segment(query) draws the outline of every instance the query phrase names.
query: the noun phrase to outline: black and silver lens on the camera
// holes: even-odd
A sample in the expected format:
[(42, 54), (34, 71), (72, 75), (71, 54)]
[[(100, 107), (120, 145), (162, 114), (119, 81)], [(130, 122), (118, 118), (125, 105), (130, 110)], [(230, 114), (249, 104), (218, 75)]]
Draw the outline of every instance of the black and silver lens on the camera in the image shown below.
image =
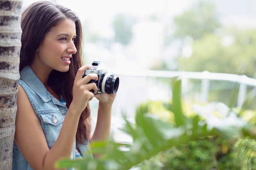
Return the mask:
[(106, 74), (104, 73), (101, 77), (100, 84), (101, 87), (100, 91), (103, 93), (108, 94), (115, 94), (117, 93), (118, 86), (119, 86), (119, 77), (113, 74)]

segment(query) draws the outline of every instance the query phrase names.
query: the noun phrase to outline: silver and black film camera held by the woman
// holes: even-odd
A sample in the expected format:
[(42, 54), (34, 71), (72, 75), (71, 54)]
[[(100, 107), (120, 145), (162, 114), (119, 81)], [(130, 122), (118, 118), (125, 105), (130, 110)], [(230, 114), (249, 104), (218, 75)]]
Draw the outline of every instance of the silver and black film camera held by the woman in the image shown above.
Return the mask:
[[(97, 85), (98, 91), (94, 95), (100, 93), (117, 93), (117, 89), (119, 86), (119, 77), (113, 74), (109, 74), (108, 71), (103, 68), (103, 65), (100, 64), (99, 61), (92, 62), (92, 67), (88, 68), (84, 72), (83, 77), (91, 73), (95, 73), (98, 75), (98, 80), (90, 80), (90, 82), (88, 82), (88, 84), (94, 82)], [(91, 90), (91, 92), (94, 93), (93, 90)]]

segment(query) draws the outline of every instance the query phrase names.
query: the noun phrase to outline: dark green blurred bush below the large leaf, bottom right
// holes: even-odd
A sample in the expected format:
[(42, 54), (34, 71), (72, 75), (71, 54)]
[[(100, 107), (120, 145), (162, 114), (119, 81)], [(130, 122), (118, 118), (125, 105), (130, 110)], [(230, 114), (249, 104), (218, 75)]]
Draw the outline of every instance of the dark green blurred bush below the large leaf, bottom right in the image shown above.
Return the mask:
[[(221, 139), (221, 140), (219, 140)], [(220, 142), (221, 141), (221, 142)], [(218, 143), (220, 142), (220, 143)], [(153, 160), (155, 159), (155, 160)], [(155, 169), (150, 167), (158, 163)], [(141, 164), (141, 170), (240, 170), (234, 144), (225, 138), (205, 137), (166, 150)]]

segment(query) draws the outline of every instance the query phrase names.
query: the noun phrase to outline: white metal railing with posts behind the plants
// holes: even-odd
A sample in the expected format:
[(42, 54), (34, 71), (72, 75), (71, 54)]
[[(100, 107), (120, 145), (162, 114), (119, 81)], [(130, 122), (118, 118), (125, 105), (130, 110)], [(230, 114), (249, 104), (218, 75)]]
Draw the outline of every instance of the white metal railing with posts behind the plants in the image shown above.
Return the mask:
[(204, 72), (186, 72), (186, 71), (137, 71), (137, 72), (117, 72), (119, 76), (128, 77), (164, 77), (173, 78), (180, 77), (180, 79), (200, 79), (201, 80), (201, 93), (200, 101), (207, 102), (209, 98), (210, 80), (223, 80), (229, 82), (237, 82), (239, 84), (239, 92), (237, 99), (237, 106), (242, 106), (246, 94), (247, 86), (256, 87), (256, 79), (247, 77), (246, 75), (236, 75), (227, 73), (210, 73)]

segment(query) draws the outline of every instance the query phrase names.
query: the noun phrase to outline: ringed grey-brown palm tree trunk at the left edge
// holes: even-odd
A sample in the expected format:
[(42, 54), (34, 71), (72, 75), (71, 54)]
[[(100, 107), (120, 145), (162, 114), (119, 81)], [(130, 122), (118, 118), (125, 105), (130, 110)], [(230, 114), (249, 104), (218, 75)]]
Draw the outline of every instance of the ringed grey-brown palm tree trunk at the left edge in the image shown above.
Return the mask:
[(23, 0), (0, 0), (0, 170), (12, 169)]

